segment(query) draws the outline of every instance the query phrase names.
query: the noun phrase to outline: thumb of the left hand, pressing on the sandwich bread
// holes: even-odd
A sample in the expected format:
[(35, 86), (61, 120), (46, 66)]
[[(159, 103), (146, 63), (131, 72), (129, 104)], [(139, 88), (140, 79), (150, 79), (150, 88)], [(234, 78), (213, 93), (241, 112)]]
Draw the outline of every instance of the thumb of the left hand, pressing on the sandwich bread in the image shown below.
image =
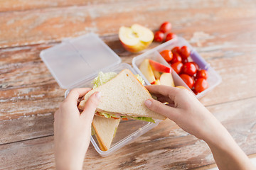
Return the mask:
[(85, 109), (81, 113), (81, 117), (84, 118), (88, 123), (92, 123), (93, 115), (95, 114), (96, 108), (100, 103), (100, 92), (97, 91), (92, 94), (85, 102)]

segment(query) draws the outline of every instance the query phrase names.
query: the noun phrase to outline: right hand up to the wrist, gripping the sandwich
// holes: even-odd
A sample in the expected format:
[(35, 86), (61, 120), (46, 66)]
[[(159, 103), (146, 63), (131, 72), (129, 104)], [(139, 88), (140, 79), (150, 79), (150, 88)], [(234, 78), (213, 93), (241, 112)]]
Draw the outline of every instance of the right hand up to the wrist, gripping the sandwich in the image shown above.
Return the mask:
[[(146, 100), (146, 106), (152, 111), (173, 120), (191, 135), (208, 141), (213, 139), (214, 132), (225, 129), (191, 91), (161, 85), (145, 87), (158, 99), (158, 101), (154, 99)], [(164, 102), (169, 104), (164, 105)]]

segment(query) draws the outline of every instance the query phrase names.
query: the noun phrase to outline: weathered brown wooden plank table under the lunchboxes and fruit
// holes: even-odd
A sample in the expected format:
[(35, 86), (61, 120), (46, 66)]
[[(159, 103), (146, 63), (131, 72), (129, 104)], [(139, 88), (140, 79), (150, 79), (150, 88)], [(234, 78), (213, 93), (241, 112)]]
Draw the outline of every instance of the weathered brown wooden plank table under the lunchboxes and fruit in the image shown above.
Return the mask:
[[(201, 102), (247, 155), (256, 153), (256, 3), (204, 0), (0, 0), (0, 169), (54, 169), (53, 113), (64, 99), (41, 50), (94, 32), (122, 62), (120, 26), (171, 21), (223, 81)], [(150, 48), (159, 45), (154, 42)], [(195, 169), (214, 164), (205, 142), (171, 120), (110, 157), (90, 145), (85, 169)]]

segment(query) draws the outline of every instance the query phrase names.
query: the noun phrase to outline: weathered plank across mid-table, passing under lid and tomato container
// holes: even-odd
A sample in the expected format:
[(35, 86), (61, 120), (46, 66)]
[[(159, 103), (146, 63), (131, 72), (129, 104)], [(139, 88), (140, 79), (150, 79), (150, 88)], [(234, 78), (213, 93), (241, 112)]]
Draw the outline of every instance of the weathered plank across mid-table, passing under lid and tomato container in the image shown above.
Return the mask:
[[(65, 90), (59, 88), (38, 57), (41, 48), (41, 45), (36, 45), (26, 50), (0, 50), (1, 120), (36, 113), (53, 113), (63, 100)], [(201, 99), (203, 104), (208, 106), (256, 95), (253, 85), (256, 83), (256, 60), (253, 57), (250, 59), (250, 56), (235, 55), (234, 52), (233, 57), (215, 58), (214, 62), (208, 60), (216, 65), (223, 82)], [(132, 60), (130, 57), (122, 59), (128, 63)], [(220, 64), (222, 66), (218, 66)], [(223, 67), (225, 64), (228, 68)], [(233, 91), (237, 92), (234, 94)], [(49, 103), (52, 103), (50, 108)]]

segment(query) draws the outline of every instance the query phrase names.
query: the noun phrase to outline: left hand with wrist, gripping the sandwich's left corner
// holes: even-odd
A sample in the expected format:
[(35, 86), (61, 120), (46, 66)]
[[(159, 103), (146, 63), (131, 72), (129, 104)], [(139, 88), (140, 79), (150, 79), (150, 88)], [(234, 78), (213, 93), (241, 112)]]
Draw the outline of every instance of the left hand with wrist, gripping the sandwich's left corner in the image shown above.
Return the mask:
[(73, 89), (54, 114), (56, 169), (82, 169), (100, 93), (96, 92), (90, 96), (82, 113), (78, 111), (78, 98), (85, 96), (90, 90)]

